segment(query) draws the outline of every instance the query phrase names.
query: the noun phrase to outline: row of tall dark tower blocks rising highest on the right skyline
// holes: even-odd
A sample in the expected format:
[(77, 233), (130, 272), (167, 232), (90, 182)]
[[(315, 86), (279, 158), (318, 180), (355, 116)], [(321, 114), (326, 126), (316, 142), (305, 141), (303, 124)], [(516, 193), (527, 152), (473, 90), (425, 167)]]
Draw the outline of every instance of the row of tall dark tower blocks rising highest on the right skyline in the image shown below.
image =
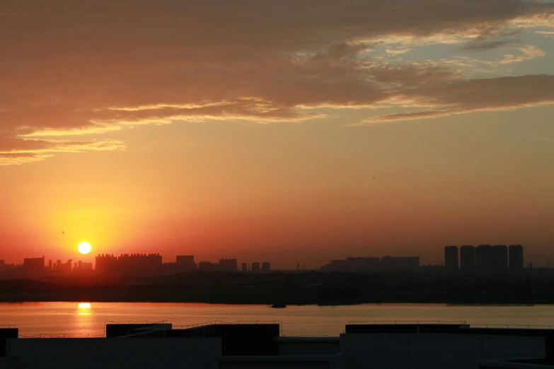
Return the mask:
[(444, 266), (447, 271), (480, 274), (521, 273), (524, 252), (521, 245), (473, 245), (444, 247)]

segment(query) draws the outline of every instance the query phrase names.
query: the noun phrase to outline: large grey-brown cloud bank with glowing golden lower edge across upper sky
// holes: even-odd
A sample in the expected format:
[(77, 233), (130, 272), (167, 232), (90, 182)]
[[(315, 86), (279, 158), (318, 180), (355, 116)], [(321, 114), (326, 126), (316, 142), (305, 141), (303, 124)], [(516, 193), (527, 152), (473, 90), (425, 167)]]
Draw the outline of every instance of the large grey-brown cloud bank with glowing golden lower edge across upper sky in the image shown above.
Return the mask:
[[(304, 122), (325, 117), (321, 107), (422, 104), (429, 91), (461, 83), (459, 68), (393, 65), (372, 58), (375, 47), (393, 56), (472, 40), (469, 49), (499, 47), (498, 37), (515, 34), (507, 28), (548, 30), (553, 9), (524, 0), (4, 0), (3, 163), (94, 151), (94, 141), (62, 139), (108, 142), (110, 132), (143, 124)], [(60, 140), (16, 153), (40, 138)]]

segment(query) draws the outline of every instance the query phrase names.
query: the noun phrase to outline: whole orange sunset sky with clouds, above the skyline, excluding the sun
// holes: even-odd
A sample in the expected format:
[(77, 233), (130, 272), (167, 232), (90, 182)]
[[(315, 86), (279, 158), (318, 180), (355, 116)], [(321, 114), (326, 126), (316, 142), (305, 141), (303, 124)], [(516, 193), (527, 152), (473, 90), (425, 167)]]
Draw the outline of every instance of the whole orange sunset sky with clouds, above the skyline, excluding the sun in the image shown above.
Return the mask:
[(4, 1), (0, 259), (546, 264), (553, 5), (337, 4)]

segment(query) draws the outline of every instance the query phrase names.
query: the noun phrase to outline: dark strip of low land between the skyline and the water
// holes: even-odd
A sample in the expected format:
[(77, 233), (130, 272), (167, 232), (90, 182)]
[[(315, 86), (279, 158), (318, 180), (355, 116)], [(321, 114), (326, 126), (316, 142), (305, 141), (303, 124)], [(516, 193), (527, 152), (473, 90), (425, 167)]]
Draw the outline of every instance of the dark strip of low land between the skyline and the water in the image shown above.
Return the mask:
[(241, 274), (10, 279), (0, 302), (207, 303), (224, 305), (554, 305), (554, 275)]

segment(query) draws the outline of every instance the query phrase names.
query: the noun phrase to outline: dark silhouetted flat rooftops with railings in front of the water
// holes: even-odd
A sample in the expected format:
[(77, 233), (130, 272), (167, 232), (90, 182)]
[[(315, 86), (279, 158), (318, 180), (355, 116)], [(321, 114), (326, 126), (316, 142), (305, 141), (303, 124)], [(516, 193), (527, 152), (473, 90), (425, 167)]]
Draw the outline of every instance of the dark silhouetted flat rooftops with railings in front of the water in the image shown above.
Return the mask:
[[(554, 331), (456, 324), (347, 324), (336, 337), (279, 324), (107, 324), (105, 337), (18, 338), (0, 329), (0, 369), (553, 368)], [(63, 360), (62, 360), (63, 358)]]

